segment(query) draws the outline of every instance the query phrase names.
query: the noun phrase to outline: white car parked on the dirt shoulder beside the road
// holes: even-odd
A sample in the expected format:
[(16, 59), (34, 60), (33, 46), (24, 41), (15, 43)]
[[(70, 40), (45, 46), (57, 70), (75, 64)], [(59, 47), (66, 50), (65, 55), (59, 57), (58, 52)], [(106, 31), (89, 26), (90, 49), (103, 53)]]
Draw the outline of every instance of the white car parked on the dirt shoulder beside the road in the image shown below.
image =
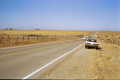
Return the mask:
[(98, 49), (99, 43), (97, 43), (96, 39), (87, 39), (85, 42), (85, 48), (96, 48)]

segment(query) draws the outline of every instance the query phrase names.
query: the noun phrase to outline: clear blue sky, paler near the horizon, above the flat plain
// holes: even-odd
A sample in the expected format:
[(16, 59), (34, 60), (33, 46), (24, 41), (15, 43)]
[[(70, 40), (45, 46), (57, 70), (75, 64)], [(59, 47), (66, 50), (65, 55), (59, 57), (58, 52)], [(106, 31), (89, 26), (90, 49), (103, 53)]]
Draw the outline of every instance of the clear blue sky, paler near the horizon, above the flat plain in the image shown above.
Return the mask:
[(0, 28), (120, 30), (119, 0), (0, 0)]

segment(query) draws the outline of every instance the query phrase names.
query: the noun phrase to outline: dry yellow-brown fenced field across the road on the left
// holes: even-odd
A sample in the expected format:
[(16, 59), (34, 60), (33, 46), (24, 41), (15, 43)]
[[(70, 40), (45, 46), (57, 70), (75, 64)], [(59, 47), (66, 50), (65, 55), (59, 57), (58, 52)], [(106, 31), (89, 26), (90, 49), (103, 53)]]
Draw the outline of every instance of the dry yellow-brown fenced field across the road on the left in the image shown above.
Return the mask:
[(0, 30), (0, 47), (12, 47), (48, 41), (80, 39), (91, 31)]

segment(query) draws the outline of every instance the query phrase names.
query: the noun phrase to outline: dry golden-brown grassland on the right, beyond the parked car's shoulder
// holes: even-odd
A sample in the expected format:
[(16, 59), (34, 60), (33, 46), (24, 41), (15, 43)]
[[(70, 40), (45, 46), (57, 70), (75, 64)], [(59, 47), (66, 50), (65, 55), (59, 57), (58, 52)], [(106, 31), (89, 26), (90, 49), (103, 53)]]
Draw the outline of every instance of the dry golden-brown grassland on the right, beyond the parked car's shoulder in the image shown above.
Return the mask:
[(98, 79), (120, 79), (120, 32), (98, 32), (102, 50), (96, 54), (95, 74)]

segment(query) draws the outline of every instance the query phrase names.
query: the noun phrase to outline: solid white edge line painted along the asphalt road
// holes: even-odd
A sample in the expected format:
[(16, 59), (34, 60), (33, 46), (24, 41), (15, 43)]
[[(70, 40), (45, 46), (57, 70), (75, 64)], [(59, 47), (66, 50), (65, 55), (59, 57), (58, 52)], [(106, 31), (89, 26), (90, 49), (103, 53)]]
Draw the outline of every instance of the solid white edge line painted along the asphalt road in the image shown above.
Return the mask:
[(40, 72), (41, 70), (43, 70), (44, 68), (47, 68), (49, 65), (55, 63), (56, 61), (62, 59), (63, 57), (67, 56), (68, 54), (74, 52), (74, 51), (77, 50), (79, 47), (80, 47), (80, 44), (79, 44), (77, 47), (73, 48), (72, 50), (64, 53), (62, 56), (57, 57), (56, 59), (52, 60), (51, 62), (47, 63), (46, 65), (40, 67), (39, 69), (35, 70), (34, 72), (32, 72), (32, 73), (28, 74), (27, 76), (23, 77), (22, 79), (28, 79), (28, 78), (30, 78), (31, 76), (33, 76), (33, 75), (35, 75), (36, 73), (38, 73), (38, 72)]

